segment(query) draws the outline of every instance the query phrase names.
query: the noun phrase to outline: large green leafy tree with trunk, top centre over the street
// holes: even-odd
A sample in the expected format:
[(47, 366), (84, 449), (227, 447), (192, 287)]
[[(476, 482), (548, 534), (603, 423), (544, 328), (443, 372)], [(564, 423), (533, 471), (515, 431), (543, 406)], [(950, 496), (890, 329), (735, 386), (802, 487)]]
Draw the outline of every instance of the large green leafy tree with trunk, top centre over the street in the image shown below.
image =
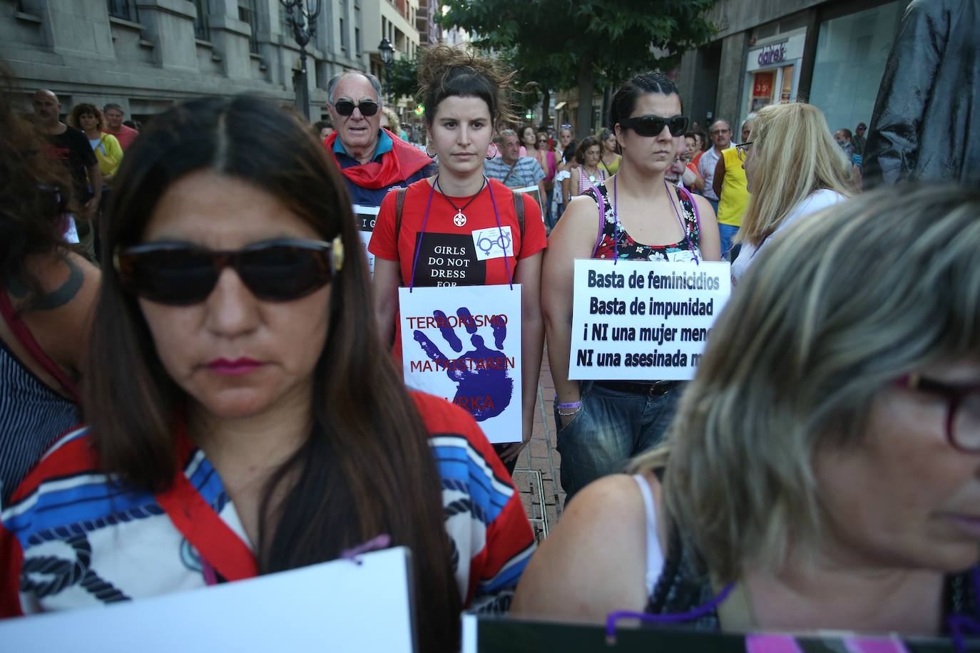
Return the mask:
[(640, 70), (673, 68), (707, 42), (714, 0), (444, 0), (445, 25), (478, 35), (481, 48), (513, 48), (521, 76), (578, 87), (578, 131), (592, 128), (597, 77), (617, 83)]

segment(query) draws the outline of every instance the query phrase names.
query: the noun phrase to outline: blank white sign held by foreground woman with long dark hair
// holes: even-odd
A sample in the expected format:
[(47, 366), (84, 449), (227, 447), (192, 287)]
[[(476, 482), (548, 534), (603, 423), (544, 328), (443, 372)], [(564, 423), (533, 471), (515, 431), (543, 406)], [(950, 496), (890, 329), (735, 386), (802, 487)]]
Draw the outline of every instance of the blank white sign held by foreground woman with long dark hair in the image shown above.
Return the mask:
[(0, 621), (29, 653), (331, 651), (412, 653), (407, 548), (105, 607)]

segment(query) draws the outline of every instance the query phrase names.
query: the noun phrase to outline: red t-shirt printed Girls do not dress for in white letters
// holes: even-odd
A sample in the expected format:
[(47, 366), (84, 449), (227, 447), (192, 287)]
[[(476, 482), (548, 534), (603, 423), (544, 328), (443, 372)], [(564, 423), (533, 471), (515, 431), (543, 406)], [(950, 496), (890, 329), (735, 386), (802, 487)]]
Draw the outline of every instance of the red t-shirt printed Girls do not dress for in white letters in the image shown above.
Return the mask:
[[(504, 231), (504, 242), (509, 256), (504, 257), (500, 246), (500, 231), (494, 214), (494, 202), (500, 213), (500, 226)], [(375, 257), (399, 261), (402, 272), (402, 285), (410, 285), (412, 265), (416, 257), (419, 237), (421, 248), (415, 271), (415, 285), (427, 286), (493, 286), (511, 281), (508, 266), (514, 275), (517, 261), (531, 257), (548, 247), (545, 223), (541, 219), (541, 209), (537, 203), (523, 196), (524, 235), (514, 211), (512, 191), (496, 179), (489, 180), (463, 213), (466, 224), (456, 226), (453, 216), (456, 209), (452, 201), (462, 208), (469, 198), (450, 197), (438, 191), (432, 194), (432, 206), (422, 234), (422, 221), (428, 205), (432, 186), (421, 179), (408, 187), (405, 206), (402, 208), (402, 227), (395, 242), (395, 193), (389, 192), (378, 210), (374, 233), (371, 235), (368, 252)], [(505, 260), (507, 261), (505, 263)], [(395, 355), (401, 358), (402, 333), (400, 316), (395, 323)]]

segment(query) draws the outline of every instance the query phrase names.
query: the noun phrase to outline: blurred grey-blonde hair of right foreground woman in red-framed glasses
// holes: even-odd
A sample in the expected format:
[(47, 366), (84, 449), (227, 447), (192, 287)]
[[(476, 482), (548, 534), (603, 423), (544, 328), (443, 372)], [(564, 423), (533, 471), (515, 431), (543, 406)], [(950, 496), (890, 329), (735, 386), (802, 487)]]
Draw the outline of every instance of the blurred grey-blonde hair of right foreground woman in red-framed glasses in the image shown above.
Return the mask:
[(861, 442), (909, 372), (980, 360), (980, 191), (891, 187), (809, 215), (719, 316), (662, 445), (665, 518), (712, 574), (803, 560), (821, 525), (814, 453)]

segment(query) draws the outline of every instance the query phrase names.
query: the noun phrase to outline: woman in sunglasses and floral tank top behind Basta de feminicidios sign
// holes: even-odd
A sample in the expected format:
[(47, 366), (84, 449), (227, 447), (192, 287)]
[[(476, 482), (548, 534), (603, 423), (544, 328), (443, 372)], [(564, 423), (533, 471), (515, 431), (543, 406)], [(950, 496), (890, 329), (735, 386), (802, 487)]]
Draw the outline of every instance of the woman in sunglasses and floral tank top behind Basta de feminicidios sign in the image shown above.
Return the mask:
[(663, 179), (678, 141), (683, 143), (682, 111), (677, 87), (659, 72), (624, 84), (611, 111), (622, 151), (619, 169), (569, 203), (548, 241), (541, 298), (555, 380), (562, 487), (569, 498), (656, 444), (679, 394), (676, 382), (568, 380), (575, 259), (719, 258), (711, 205)]

